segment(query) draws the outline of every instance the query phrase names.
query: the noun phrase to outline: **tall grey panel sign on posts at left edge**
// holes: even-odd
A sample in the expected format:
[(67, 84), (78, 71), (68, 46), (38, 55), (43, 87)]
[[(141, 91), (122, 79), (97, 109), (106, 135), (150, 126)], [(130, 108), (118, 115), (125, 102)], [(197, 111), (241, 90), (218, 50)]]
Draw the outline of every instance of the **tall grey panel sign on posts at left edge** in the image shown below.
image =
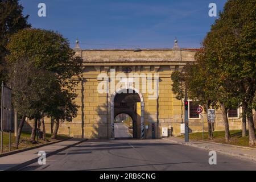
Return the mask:
[(1, 153), (3, 152), (3, 131), (9, 131), (9, 150), (11, 151), (11, 89), (2, 82), (1, 97)]

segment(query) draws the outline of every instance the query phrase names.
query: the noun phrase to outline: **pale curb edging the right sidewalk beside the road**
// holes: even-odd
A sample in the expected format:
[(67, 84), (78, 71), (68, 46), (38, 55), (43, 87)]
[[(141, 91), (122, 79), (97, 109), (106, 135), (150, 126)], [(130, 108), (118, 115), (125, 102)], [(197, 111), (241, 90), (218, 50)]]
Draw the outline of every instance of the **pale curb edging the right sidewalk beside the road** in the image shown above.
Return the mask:
[(235, 153), (232, 153), (232, 152), (225, 152), (225, 151), (222, 151), (222, 150), (219, 150), (219, 149), (216, 149), (216, 148), (197, 146), (196, 144), (193, 144), (193, 143), (177, 142), (176, 140), (171, 140), (171, 139), (167, 139), (167, 140), (170, 141), (170, 142), (183, 144), (185, 146), (200, 148), (200, 149), (207, 150), (207, 151), (214, 150), (216, 152), (219, 152), (220, 154), (229, 155), (229, 156), (233, 156), (233, 157), (240, 158), (240, 159), (253, 160), (254, 162), (256, 162), (256, 156), (251, 156), (251, 155), (246, 155), (246, 154), (235, 154)]

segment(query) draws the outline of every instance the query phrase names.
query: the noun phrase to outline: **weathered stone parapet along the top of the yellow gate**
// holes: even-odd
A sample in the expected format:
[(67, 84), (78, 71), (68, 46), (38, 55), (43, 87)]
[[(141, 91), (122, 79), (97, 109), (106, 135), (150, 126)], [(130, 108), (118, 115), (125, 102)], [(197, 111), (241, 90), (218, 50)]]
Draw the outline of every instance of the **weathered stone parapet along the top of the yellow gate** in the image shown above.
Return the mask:
[(171, 63), (171, 62), (194, 62), (195, 53), (200, 49), (86, 49), (76, 51), (84, 63)]

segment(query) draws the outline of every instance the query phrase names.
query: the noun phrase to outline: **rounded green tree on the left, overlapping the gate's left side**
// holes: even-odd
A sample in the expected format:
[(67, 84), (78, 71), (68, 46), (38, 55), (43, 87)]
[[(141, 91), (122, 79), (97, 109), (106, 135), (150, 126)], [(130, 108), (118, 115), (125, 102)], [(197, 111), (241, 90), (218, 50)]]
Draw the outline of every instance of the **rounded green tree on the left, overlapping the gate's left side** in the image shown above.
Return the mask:
[(73, 92), (82, 72), (82, 59), (59, 33), (35, 28), (18, 31), (6, 47), (14, 105), (23, 119), (34, 119), (34, 143), (38, 119), (48, 116), (71, 121), (76, 116), (73, 100), (77, 95)]

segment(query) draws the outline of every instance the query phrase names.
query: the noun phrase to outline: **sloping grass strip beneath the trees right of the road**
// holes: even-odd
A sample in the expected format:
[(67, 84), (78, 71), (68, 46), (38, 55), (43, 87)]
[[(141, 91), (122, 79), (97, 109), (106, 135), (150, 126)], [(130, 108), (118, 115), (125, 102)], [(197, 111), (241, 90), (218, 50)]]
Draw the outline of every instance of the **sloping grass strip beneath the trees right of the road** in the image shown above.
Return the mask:
[[(256, 134), (256, 131), (255, 131)], [(208, 139), (208, 132), (204, 132), (204, 140), (205, 141), (211, 141), (211, 142), (217, 142), (217, 143), (226, 143), (226, 144), (233, 144), (236, 146), (246, 146), (249, 147), (249, 134), (247, 131), (246, 137), (242, 137), (242, 131), (241, 130), (232, 130), (230, 131), (231, 135), (231, 142), (226, 143), (225, 142), (225, 131), (214, 131), (213, 132), (213, 139)], [(180, 136), (181, 138), (184, 138), (184, 135)], [(190, 133), (189, 139), (191, 140), (202, 140), (203, 133)], [(256, 146), (254, 146), (256, 147)]]

